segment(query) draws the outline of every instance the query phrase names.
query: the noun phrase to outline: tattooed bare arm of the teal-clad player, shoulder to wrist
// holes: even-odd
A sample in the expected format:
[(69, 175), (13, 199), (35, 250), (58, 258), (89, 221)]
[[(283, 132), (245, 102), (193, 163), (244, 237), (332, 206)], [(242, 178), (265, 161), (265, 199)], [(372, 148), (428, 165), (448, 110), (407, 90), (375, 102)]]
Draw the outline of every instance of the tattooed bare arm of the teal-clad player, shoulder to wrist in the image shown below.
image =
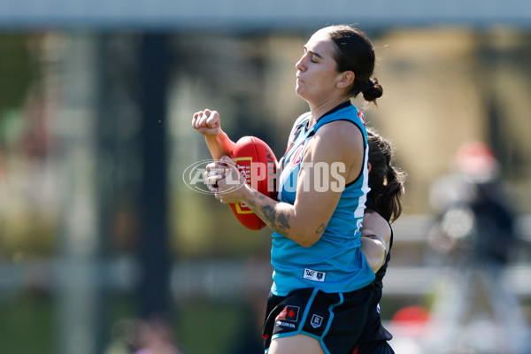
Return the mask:
[(353, 181), (361, 171), (363, 151), (363, 135), (352, 123), (327, 124), (319, 129), (304, 153), (293, 205), (273, 201), (252, 189), (247, 189), (243, 202), (268, 227), (310, 247), (323, 235), (345, 183)]

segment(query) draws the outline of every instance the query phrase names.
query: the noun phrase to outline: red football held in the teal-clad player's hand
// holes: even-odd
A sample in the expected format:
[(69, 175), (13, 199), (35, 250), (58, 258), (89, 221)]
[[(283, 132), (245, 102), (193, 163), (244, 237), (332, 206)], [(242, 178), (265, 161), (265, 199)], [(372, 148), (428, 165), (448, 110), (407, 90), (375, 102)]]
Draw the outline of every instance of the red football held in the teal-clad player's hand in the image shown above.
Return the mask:
[[(277, 160), (266, 142), (256, 136), (243, 136), (235, 143), (230, 158), (238, 165), (247, 184), (265, 196), (276, 198)], [(230, 204), (230, 208), (244, 227), (251, 230), (266, 227), (266, 223), (245, 204)]]

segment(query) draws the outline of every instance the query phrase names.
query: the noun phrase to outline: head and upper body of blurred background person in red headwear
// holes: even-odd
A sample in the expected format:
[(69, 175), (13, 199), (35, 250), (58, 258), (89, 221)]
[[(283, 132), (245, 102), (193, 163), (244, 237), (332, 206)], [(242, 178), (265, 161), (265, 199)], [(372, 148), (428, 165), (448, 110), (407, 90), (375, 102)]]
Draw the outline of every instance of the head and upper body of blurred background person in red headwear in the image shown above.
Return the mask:
[(430, 195), (439, 218), (430, 245), (458, 260), (504, 266), (517, 237), (494, 154), (482, 142), (466, 143), (454, 167), (435, 181)]

